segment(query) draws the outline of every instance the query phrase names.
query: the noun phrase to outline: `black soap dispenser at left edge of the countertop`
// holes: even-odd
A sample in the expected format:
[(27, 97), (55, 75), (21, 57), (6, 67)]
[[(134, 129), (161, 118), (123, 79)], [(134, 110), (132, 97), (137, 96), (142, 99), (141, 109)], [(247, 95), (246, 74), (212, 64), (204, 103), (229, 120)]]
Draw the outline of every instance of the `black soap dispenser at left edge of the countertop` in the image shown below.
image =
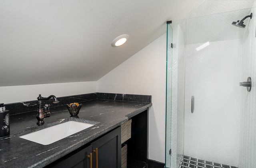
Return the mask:
[(0, 104), (0, 136), (10, 134), (9, 110), (6, 110), (4, 103)]

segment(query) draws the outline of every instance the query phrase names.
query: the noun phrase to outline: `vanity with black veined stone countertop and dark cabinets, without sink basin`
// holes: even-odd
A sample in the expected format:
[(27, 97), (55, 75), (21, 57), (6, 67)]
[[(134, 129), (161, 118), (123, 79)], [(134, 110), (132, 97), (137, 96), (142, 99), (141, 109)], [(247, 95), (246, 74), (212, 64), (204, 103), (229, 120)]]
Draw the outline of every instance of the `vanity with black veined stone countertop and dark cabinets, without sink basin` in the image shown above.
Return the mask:
[[(121, 167), (122, 123), (132, 119), (127, 144), (128, 165), (148, 161), (148, 108), (152, 103), (94, 99), (80, 102), (79, 118), (70, 118), (66, 106), (51, 107), (44, 125), (36, 125), (36, 112), (10, 116), (10, 136), (0, 137), (0, 167)], [(52, 125), (74, 121), (92, 121), (95, 125), (42, 145), (19, 136)], [(98, 156), (98, 158), (96, 157)], [(137, 163), (136, 163), (137, 164)], [(138, 165), (138, 164), (137, 164)]]

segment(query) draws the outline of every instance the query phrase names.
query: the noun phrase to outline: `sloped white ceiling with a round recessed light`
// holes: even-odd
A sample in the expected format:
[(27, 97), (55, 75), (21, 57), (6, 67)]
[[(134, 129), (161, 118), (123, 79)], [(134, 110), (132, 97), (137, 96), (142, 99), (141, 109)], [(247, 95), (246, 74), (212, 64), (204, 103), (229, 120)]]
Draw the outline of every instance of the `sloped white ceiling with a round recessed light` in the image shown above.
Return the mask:
[(202, 1), (3, 0), (0, 86), (97, 81)]

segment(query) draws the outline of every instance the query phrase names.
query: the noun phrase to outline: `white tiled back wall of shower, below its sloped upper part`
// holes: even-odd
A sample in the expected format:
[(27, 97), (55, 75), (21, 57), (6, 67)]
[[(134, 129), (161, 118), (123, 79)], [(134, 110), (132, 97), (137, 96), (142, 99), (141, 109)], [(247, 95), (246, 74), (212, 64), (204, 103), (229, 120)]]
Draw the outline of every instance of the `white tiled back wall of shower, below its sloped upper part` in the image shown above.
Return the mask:
[(184, 155), (238, 166), (242, 43), (200, 45), (186, 45)]

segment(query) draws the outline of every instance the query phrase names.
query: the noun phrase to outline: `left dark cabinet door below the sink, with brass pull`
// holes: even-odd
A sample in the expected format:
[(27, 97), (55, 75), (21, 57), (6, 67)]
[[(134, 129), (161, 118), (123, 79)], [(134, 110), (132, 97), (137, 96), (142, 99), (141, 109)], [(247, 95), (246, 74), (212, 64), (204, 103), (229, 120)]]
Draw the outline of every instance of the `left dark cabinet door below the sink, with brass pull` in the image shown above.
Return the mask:
[[(74, 154), (73, 154), (74, 153)], [(60, 160), (48, 165), (50, 168), (90, 168), (90, 153), (92, 153), (92, 145), (80, 150), (72, 152), (64, 156)], [(92, 163), (91, 163), (92, 164)]]

